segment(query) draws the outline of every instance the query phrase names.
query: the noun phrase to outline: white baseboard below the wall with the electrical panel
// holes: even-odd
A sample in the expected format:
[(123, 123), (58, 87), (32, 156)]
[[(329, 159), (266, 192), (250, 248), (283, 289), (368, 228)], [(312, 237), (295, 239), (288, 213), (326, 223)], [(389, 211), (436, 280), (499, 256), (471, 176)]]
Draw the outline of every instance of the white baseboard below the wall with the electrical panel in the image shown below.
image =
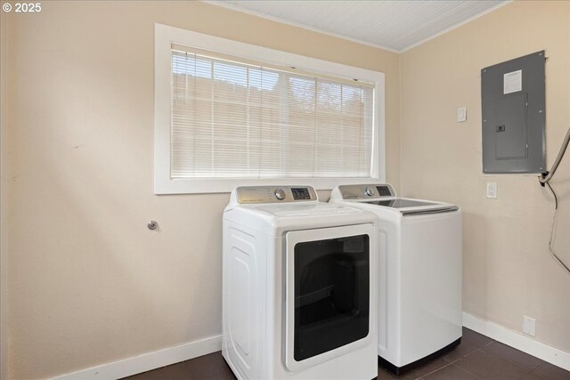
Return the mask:
[(548, 361), (550, 364), (570, 371), (570, 352), (564, 352), (548, 344), (542, 344), (528, 336), (524, 336), (488, 320), (479, 319), (465, 311), (463, 311), (463, 326), (484, 336), (489, 336), (502, 344), (507, 344), (517, 350), (526, 352), (529, 355), (533, 355), (536, 358)]

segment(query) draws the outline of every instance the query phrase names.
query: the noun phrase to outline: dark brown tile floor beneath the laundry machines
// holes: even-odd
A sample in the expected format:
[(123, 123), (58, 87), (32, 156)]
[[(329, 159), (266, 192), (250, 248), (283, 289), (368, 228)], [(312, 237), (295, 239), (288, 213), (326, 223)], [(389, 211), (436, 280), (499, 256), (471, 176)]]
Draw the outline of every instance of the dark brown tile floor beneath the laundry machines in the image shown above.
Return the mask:
[[(392, 375), (384, 368), (379, 368), (378, 378), (398, 378), (400, 380), (570, 380), (570, 372), (464, 327), (461, 344), (452, 352), (431, 360), (399, 377)], [(235, 379), (235, 376), (222, 358), (222, 352), (214, 352), (172, 366), (126, 377), (126, 379), (231, 380)]]

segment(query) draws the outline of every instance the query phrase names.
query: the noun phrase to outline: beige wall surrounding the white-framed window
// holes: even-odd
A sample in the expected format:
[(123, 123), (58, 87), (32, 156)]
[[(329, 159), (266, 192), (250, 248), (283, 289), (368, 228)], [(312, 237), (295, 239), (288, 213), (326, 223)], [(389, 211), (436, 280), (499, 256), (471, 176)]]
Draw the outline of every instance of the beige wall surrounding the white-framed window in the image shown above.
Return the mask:
[(42, 2), (40, 14), (3, 14), (11, 379), (221, 334), (228, 195), (152, 190), (155, 22), (386, 73), (387, 180), (399, 185), (395, 53), (196, 2)]

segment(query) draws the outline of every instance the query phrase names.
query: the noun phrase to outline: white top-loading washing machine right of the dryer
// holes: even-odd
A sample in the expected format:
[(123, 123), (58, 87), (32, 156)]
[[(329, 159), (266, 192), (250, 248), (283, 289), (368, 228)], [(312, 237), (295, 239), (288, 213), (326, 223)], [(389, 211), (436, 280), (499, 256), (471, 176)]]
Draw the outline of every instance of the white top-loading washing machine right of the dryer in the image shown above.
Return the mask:
[(330, 202), (379, 217), (380, 364), (400, 375), (460, 344), (460, 207), (389, 184), (338, 186)]

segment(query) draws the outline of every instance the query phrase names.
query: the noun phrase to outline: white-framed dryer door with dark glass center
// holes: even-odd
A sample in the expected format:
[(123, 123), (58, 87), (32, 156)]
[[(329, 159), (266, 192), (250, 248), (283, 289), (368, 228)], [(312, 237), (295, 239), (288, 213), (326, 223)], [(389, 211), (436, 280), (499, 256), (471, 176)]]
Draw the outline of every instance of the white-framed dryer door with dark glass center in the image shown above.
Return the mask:
[(371, 224), (286, 235), (286, 366), (314, 366), (367, 344), (374, 331)]

